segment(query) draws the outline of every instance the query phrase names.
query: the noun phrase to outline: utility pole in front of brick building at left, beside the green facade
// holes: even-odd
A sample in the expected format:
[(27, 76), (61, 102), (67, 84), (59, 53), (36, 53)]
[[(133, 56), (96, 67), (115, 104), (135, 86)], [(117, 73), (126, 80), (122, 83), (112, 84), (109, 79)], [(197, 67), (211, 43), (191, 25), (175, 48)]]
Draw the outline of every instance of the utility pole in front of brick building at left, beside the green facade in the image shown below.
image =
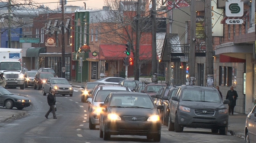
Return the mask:
[(62, 0), (62, 78), (65, 78), (64, 0)]

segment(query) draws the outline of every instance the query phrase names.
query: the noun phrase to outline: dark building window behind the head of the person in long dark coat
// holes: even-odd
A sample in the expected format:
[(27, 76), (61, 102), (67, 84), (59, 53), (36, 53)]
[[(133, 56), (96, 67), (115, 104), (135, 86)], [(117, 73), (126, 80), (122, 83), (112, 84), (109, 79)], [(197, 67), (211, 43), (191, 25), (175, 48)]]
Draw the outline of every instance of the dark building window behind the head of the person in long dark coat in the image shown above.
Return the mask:
[(219, 68), (219, 85), (220, 86), (236, 86), (237, 85), (237, 69), (232, 67)]

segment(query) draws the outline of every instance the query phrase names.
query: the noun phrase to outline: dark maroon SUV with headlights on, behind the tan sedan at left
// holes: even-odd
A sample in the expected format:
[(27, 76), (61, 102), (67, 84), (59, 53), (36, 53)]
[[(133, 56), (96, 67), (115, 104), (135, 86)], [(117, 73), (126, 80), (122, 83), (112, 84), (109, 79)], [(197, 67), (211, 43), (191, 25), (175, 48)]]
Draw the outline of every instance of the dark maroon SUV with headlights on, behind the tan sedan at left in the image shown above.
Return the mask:
[(54, 77), (50, 72), (37, 72), (34, 78), (34, 89), (40, 90), (48, 78)]

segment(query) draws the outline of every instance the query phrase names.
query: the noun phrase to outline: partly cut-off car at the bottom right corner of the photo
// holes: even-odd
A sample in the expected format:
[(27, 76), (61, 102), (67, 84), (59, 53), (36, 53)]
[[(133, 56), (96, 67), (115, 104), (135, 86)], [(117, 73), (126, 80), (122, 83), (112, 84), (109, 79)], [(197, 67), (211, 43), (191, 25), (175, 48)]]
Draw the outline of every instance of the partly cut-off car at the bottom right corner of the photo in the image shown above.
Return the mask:
[(245, 143), (256, 143), (256, 105), (247, 115), (244, 134)]

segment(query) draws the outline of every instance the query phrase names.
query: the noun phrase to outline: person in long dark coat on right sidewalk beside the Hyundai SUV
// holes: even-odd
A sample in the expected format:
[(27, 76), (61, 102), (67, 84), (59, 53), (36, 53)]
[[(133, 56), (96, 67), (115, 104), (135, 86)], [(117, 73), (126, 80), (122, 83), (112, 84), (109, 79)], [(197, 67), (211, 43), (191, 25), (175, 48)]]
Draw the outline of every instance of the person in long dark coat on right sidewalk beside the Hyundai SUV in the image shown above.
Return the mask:
[(227, 96), (226, 96), (226, 99), (230, 101), (228, 104), (229, 115), (230, 113), (232, 113), (232, 115), (234, 114), (234, 108), (236, 106), (237, 97), (238, 97), (237, 91), (234, 90), (233, 86), (230, 86), (230, 90), (228, 90)]

